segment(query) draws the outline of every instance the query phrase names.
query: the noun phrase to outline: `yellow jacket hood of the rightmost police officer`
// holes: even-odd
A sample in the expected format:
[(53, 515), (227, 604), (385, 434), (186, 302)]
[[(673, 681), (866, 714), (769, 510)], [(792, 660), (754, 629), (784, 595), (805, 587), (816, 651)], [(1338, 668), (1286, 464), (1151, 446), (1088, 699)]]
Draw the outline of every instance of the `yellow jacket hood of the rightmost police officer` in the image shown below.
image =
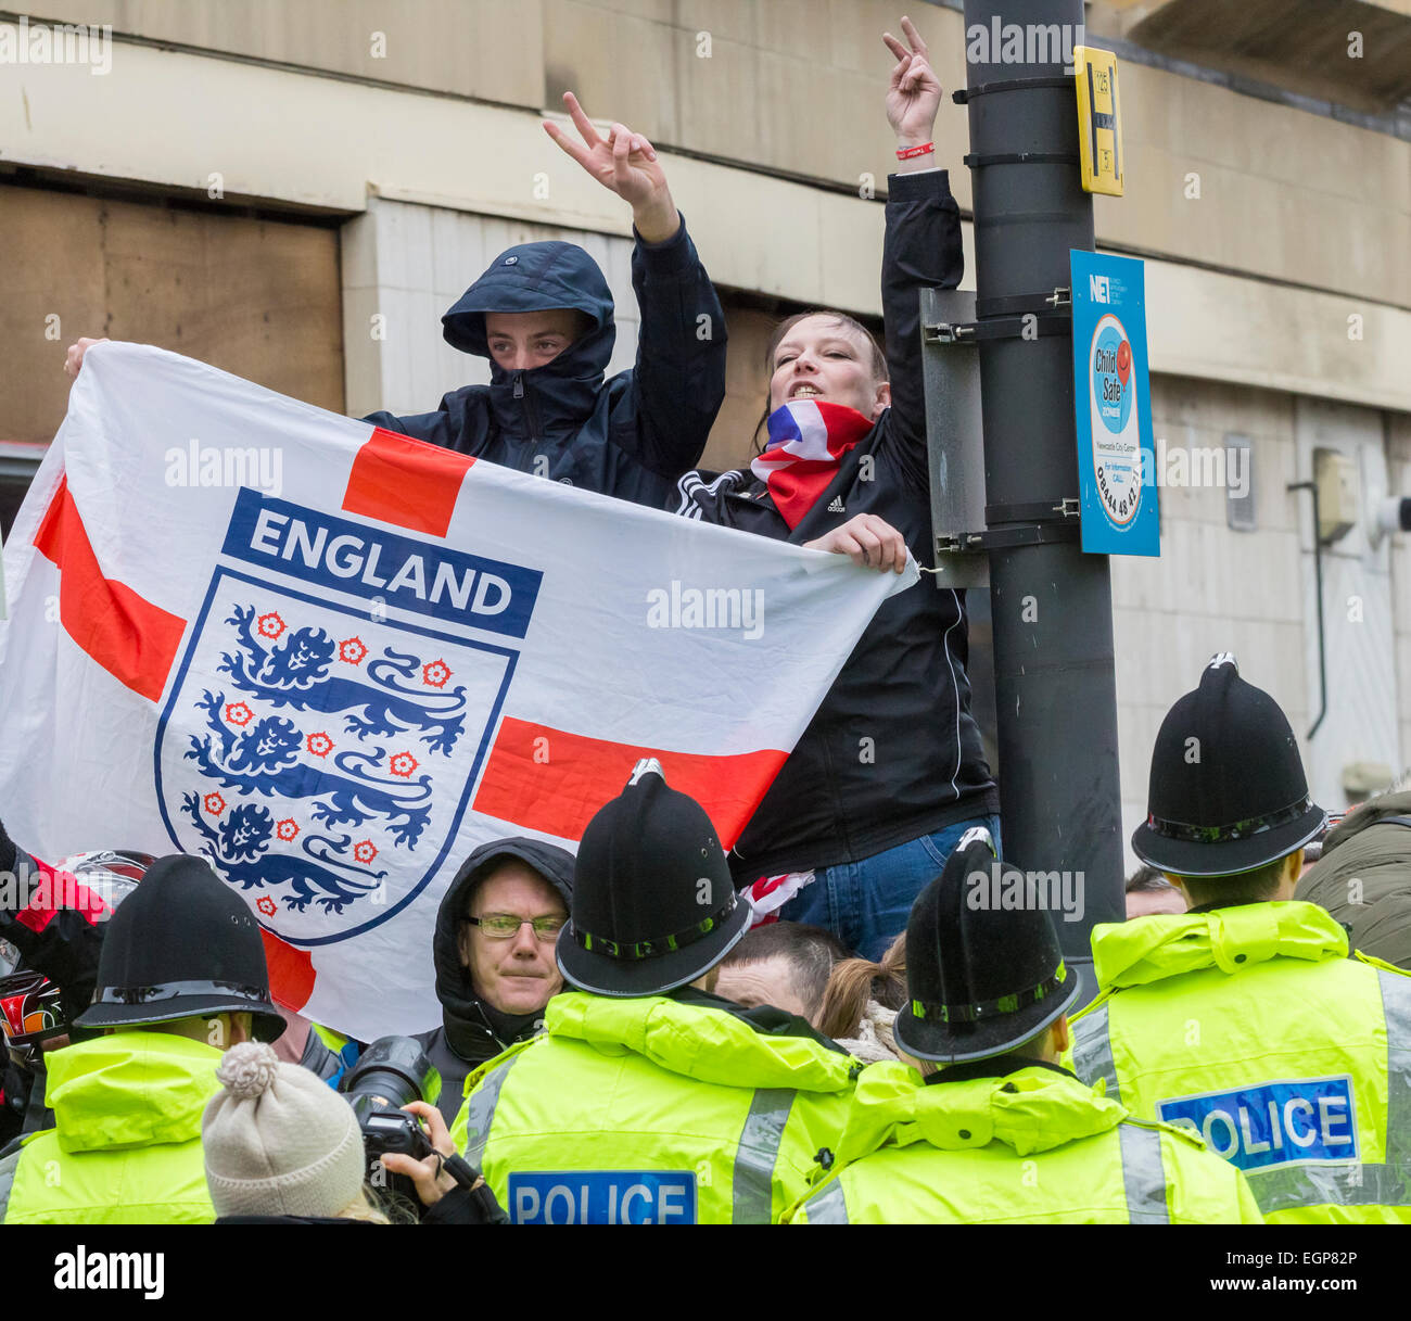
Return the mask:
[(1233, 974), (1270, 958), (1346, 957), (1348, 933), (1314, 903), (1246, 903), (1092, 929), (1094, 972), (1103, 989), (1143, 987), (1202, 968)]

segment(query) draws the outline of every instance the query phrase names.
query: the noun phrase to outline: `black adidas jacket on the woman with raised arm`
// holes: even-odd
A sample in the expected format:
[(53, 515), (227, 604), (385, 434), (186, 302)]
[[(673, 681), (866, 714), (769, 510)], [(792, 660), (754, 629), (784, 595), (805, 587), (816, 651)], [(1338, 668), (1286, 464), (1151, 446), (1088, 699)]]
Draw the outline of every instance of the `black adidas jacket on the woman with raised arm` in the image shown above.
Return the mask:
[[(917, 560), (933, 562), (920, 289), (959, 284), (959, 212), (945, 171), (893, 175), (889, 188), (882, 308), (892, 406), (792, 532), (748, 470), (687, 473), (674, 512), (796, 545), (875, 514)], [(869, 467), (872, 480), (862, 480)], [(923, 577), (883, 601), (731, 851), (735, 879), (858, 862), (998, 812), (967, 659), (964, 593)]]

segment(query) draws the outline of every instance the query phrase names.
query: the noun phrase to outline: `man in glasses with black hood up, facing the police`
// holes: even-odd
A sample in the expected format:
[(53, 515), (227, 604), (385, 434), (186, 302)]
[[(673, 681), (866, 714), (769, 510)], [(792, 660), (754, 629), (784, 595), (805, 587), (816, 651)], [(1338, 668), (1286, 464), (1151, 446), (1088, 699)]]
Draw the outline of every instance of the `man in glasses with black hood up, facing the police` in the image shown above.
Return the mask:
[(563, 989), (553, 948), (571, 893), (573, 854), (528, 838), (483, 844), (447, 888), (433, 941), (442, 1026), (416, 1039), (440, 1071), (447, 1125), (466, 1075), (533, 1036)]

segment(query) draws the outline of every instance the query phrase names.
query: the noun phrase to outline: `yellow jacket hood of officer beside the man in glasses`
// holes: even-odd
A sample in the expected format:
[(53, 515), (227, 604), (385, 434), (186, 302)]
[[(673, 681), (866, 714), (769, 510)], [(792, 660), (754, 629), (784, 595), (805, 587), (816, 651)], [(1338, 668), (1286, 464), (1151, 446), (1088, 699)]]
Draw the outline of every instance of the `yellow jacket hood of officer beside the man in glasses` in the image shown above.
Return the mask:
[(721, 1087), (789, 1087), (841, 1092), (856, 1061), (817, 1037), (766, 1036), (728, 1011), (662, 995), (610, 999), (569, 991), (549, 1001), (549, 1036), (587, 1042), (605, 1054), (632, 1051), (660, 1068)]

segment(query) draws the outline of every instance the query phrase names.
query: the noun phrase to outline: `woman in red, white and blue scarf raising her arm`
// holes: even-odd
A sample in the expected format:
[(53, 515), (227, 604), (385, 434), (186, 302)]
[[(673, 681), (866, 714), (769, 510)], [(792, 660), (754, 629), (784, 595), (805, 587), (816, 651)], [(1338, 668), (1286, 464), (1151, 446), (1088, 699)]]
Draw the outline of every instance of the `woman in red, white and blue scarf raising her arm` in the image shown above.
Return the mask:
[[(769, 346), (768, 440), (748, 470), (687, 473), (676, 512), (900, 572), (931, 559), (920, 289), (959, 284), (959, 212), (935, 167), (941, 86), (926, 42), (883, 35), (897, 137), (882, 305), (886, 353), (838, 312), (792, 316)], [(786, 920), (879, 960), (999, 793), (969, 711), (964, 593), (928, 579), (886, 600), (731, 852)], [(780, 879), (783, 876), (783, 879)], [(777, 905), (780, 891), (793, 896)]]

